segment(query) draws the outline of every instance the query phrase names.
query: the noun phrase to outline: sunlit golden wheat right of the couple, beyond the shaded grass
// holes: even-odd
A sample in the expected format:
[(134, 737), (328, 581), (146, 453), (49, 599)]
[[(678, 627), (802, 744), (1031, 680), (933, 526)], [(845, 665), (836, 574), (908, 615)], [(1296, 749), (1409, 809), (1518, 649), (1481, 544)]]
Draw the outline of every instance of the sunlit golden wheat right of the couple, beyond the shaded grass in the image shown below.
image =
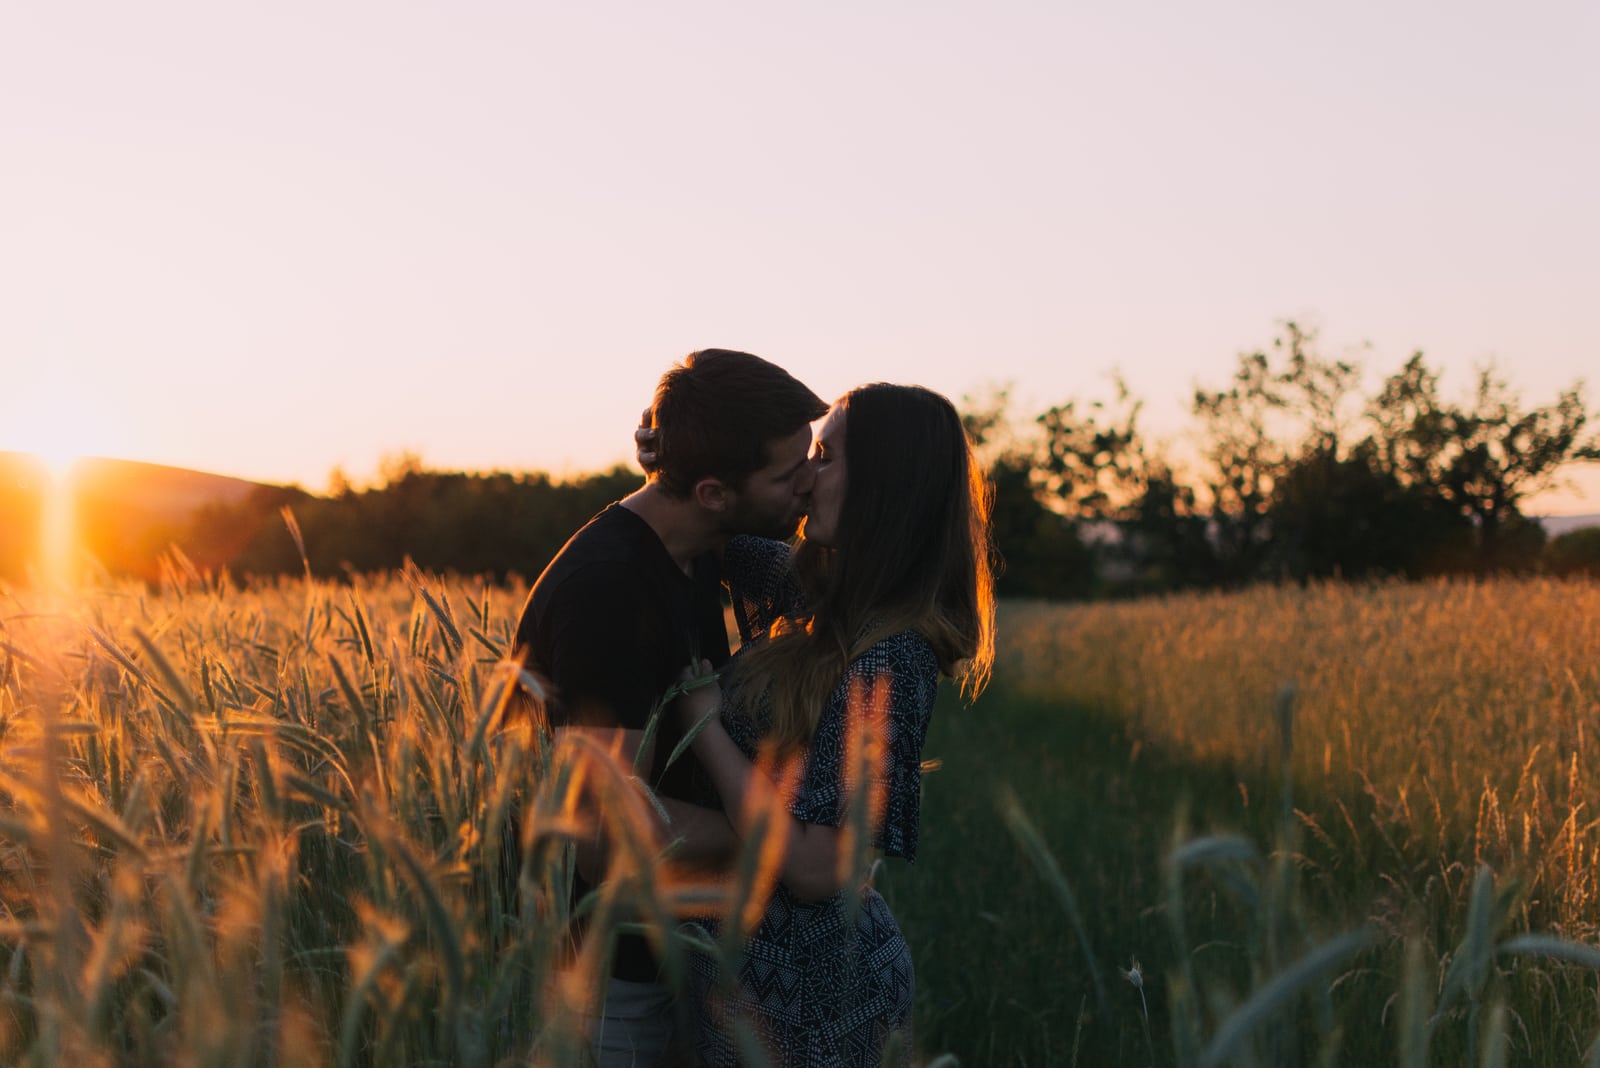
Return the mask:
[(1395, 907), (1486, 863), (1523, 879), (1528, 923), (1595, 940), (1600, 587), (1259, 588), (1019, 604), (1005, 625), (1013, 692), (1093, 705), (1195, 761), (1282, 779), (1291, 702), (1286, 774), (1328, 855), (1437, 860)]

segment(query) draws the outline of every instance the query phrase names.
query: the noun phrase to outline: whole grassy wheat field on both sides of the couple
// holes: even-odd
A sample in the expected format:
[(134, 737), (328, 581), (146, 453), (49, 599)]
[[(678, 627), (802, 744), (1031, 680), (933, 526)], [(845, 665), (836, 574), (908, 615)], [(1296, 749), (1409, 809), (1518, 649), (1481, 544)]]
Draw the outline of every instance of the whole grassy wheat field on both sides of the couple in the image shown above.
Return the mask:
[[(603, 753), (499, 729), (518, 604), (181, 560), (0, 592), (0, 1062), (578, 1063), (570, 787), (642, 815)], [(1600, 588), (1019, 603), (1002, 646), (878, 876), (920, 1060), (1589, 1055)], [(602, 927), (717, 897), (621, 852)]]

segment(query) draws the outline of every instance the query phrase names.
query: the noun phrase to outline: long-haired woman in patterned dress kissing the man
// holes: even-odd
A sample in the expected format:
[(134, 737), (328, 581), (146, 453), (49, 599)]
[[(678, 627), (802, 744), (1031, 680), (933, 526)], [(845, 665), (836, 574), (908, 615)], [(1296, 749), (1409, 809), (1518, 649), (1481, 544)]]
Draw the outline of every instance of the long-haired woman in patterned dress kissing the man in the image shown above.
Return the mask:
[(738, 831), (773, 796), (774, 767), (798, 775), (778, 884), (739, 974), (694, 964), (706, 1065), (741, 1062), (738, 1018), (774, 1065), (877, 1065), (896, 1033), (909, 1054), (906, 940), (875, 891), (845, 886), (838, 859), (854, 787), (846, 737), (877, 694), (886, 739), (870, 774), (872, 844), (912, 860), (939, 676), (976, 694), (994, 660), (989, 497), (955, 408), (922, 387), (861, 387), (824, 417), (811, 464), (797, 550), (730, 542), (746, 644), (726, 689), (693, 689), (677, 710), (706, 721), (694, 753)]

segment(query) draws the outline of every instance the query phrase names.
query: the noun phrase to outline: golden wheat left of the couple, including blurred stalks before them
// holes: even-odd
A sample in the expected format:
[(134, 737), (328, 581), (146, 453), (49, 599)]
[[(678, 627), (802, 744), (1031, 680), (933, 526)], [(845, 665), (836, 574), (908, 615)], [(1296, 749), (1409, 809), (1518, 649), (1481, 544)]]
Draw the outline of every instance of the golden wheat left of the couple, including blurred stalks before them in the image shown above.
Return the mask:
[(181, 555), (160, 588), (0, 587), (0, 1063), (581, 1065), (613, 935), (736, 974), (784, 798), (731, 878), (674, 863), (618, 750), (522, 715), (520, 603), (416, 569), (235, 590)]

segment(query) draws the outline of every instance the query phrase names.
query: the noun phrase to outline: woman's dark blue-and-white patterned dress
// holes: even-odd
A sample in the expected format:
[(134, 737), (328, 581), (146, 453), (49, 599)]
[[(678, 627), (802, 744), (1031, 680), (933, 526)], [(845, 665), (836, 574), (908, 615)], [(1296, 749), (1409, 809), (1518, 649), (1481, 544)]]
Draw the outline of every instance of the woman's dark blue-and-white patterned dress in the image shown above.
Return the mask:
[[(723, 574), (733, 588), (741, 638), (760, 641), (778, 616), (798, 608), (789, 547), (752, 537), (730, 542)], [(915, 859), (922, 803), (922, 743), (933, 715), (939, 664), (928, 641), (902, 632), (856, 657), (829, 697), (789, 811), (806, 823), (842, 827), (851, 790), (845, 783), (850, 695), (874, 684), (888, 689), (888, 753), (882, 769), (883, 819), (874, 846)], [(760, 727), (731, 713), (723, 726), (754, 758)], [(858, 895), (851, 923), (846, 894)], [(707, 924), (715, 935), (715, 924)], [(885, 1039), (901, 1033), (909, 1054), (912, 964), (906, 938), (875, 891), (845, 889), (822, 902), (797, 900), (778, 884), (760, 926), (744, 946), (738, 982), (726, 983), (710, 956), (693, 958), (696, 1052), (710, 1066), (741, 1063), (734, 1020), (760, 1038), (774, 1068), (878, 1065)]]

